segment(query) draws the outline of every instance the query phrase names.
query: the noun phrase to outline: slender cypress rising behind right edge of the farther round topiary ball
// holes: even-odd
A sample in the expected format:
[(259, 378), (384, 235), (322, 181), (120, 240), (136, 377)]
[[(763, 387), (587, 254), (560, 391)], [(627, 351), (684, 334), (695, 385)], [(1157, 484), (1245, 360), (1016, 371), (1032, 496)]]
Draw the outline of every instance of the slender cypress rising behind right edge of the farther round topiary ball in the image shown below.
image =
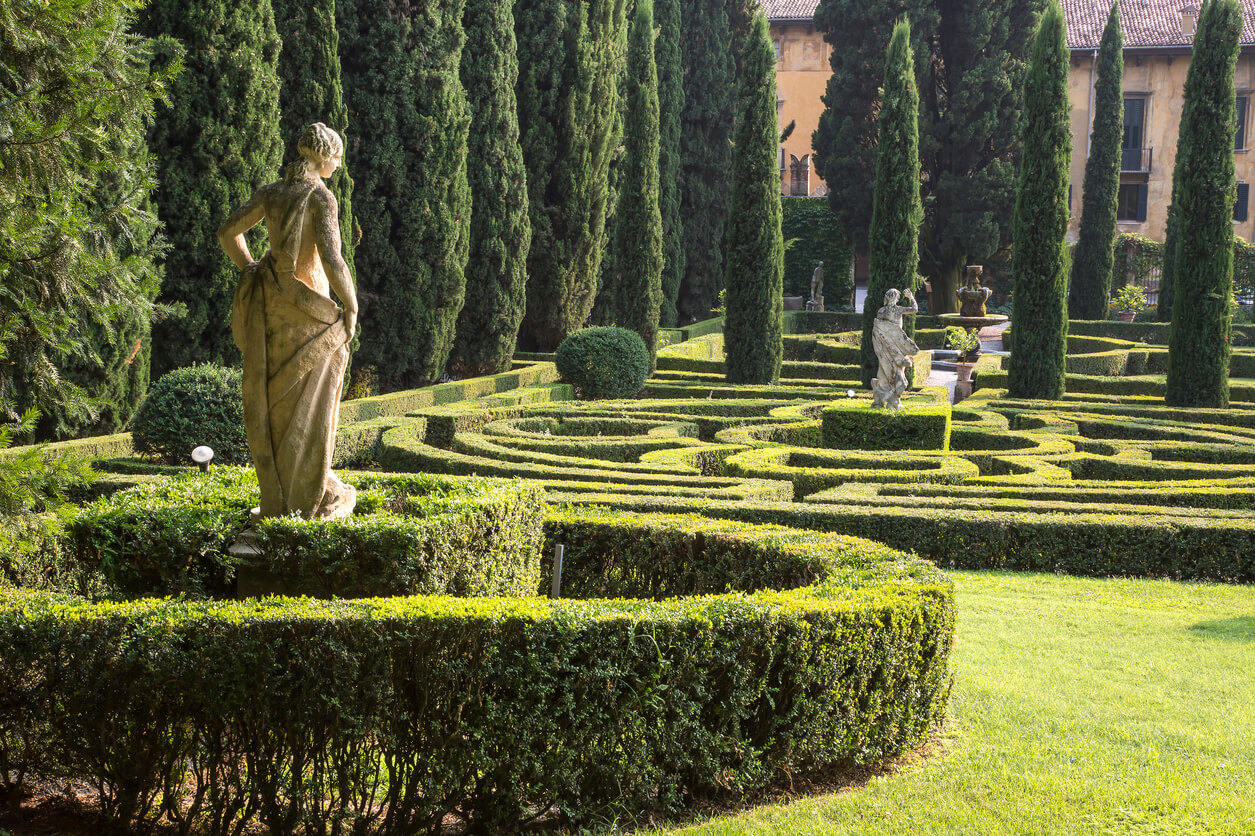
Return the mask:
[(663, 301), (663, 217), (658, 206), (658, 69), (654, 62), (651, 0), (636, 0), (628, 36), (624, 143), (628, 153), (615, 221), (615, 311), (619, 325), (635, 331), (645, 341), (653, 370)]

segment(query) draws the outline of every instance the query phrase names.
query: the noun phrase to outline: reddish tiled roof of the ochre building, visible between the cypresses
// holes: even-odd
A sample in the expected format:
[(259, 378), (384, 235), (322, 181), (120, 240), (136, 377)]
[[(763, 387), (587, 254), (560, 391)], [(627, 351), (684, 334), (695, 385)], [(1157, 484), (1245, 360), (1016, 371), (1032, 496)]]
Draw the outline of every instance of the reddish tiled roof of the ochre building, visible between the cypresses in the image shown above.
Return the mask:
[[(1094, 49), (1107, 25), (1108, 0), (1062, 0), (1068, 19), (1068, 46)], [(762, 0), (768, 20), (809, 20), (820, 0)], [(1255, 0), (1241, 0), (1246, 23), (1242, 43), (1255, 44)], [(1181, 10), (1200, 0), (1119, 0), (1124, 46), (1187, 46), (1192, 36), (1181, 34)]]

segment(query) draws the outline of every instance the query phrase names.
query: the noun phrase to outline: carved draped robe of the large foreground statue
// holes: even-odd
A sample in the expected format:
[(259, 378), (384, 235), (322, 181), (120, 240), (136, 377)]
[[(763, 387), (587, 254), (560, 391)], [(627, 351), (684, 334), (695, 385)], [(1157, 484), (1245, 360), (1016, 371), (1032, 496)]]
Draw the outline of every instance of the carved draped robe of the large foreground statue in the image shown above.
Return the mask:
[(319, 186), (311, 182), (279, 228), (269, 228), (271, 252), (242, 272), (231, 308), (232, 335), (243, 351), (245, 428), (264, 517), (340, 516), (356, 500), (356, 491), (331, 472), (349, 362), (343, 311), (292, 272), (275, 270), (272, 255), (280, 250), (296, 262), (309, 198)]

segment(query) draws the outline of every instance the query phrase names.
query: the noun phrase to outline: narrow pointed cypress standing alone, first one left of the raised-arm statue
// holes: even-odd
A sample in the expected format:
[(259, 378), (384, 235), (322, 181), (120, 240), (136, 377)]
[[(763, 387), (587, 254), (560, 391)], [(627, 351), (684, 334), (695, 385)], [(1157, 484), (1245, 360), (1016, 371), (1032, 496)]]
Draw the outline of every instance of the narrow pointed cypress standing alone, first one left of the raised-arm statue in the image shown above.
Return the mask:
[(728, 210), (728, 383), (779, 380), (784, 354), (784, 241), (776, 148), (776, 50), (759, 11), (740, 53)]

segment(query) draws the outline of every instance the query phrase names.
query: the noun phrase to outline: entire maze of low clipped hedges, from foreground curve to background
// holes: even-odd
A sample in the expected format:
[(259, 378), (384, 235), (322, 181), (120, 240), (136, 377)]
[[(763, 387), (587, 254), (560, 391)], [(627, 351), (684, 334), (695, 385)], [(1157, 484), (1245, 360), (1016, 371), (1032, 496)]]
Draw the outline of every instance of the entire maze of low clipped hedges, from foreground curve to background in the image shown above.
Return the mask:
[[(0, 788), (87, 780), (132, 830), (595, 827), (916, 746), (949, 695), (936, 566), (1255, 580), (1255, 407), (1008, 399), (986, 356), (958, 407), (887, 414), (818, 325), (778, 387), (728, 387), (694, 329), (634, 399), (532, 356), (354, 402), (359, 513), (267, 521), (279, 572), (226, 555), (247, 471), (79, 442), (102, 498), (5, 567)], [(1076, 339), (1087, 372), (1157, 362)]]

